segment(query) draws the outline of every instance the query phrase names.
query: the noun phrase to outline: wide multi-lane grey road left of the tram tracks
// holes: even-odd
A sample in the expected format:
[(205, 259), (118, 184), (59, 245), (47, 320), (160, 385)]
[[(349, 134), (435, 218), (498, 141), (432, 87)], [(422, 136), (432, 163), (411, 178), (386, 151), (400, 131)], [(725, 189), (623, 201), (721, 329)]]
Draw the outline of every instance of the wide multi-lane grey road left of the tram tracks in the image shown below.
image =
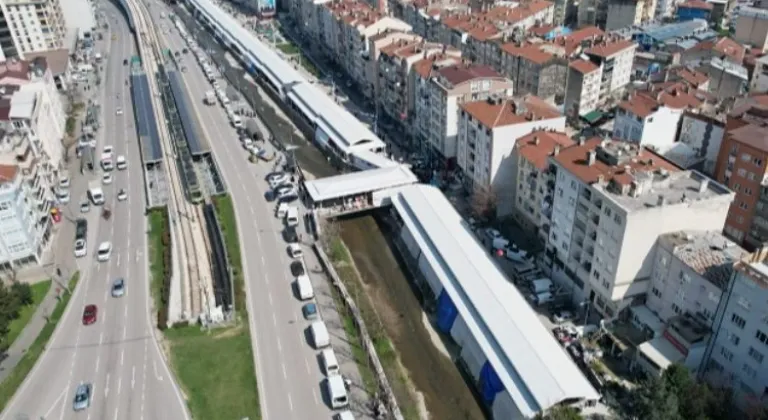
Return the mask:
[[(115, 171), (112, 185), (104, 187), (111, 219), (101, 218), (98, 207), (84, 215), (89, 221), (88, 255), (76, 261), (80, 285), (47, 351), (0, 416), (2, 420), (23, 416), (88, 420), (188, 418), (154, 340), (149, 316), (142, 165), (131, 96), (125, 85), (129, 69), (123, 66), (123, 59), (134, 54), (134, 46), (123, 16), (112, 3), (105, 4), (104, 10), (111, 16), (111, 33), (117, 34), (117, 39), (112, 41), (111, 33), (106, 33), (97, 47), (106, 49), (110, 44), (104, 63), (105, 91), (100, 100), (104, 124), (97, 141), (99, 152), (103, 145), (111, 144), (115, 155), (125, 155), (129, 168)], [(123, 115), (116, 115), (118, 107)], [(101, 173), (72, 175), (72, 200), (64, 211), (68, 219), (80, 216), (79, 203), (85, 200), (87, 182), (101, 177)], [(117, 202), (120, 188), (128, 191), (128, 201)], [(61, 241), (66, 243), (67, 239)], [(108, 262), (98, 263), (95, 253), (102, 241), (112, 241), (112, 256)], [(126, 279), (126, 294), (112, 298), (111, 284), (118, 277)], [(98, 306), (98, 320), (84, 326), (82, 311), (87, 304)], [(72, 409), (75, 389), (84, 382), (93, 385), (92, 404), (76, 413)]]

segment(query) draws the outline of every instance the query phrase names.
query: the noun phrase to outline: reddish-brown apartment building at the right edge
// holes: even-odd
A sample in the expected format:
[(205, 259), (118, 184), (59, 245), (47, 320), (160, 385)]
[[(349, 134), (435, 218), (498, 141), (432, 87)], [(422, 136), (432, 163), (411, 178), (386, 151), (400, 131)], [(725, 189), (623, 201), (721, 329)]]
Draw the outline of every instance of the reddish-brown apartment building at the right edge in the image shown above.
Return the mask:
[(768, 96), (737, 104), (725, 125), (715, 165), (718, 182), (736, 193), (724, 233), (747, 250), (768, 242)]

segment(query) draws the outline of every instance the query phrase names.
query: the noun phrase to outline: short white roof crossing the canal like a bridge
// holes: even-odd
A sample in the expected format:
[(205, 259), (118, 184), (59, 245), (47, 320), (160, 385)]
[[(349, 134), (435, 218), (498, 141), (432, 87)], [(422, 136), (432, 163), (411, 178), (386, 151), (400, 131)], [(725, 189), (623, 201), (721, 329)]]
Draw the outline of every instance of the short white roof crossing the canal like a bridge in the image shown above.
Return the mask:
[(402, 187), (418, 181), (410, 169), (397, 165), (306, 181), (304, 187), (312, 201), (318, 202), (374, 190)]

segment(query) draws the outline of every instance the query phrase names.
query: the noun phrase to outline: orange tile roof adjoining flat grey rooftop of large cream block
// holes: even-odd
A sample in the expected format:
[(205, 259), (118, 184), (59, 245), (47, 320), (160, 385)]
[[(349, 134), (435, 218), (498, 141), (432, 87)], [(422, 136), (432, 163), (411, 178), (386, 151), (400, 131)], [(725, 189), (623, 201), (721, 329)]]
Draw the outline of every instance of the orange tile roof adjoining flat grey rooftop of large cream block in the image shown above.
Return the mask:
[[(666, 169), (669, 172), (678, 172), (680, 170), (680, 168), (664, 159), (661, 155), (649, 149), (639, 148), (635, 144), (625, 142), (621, 142), (622, 145), (629, 146), (631, 148), (630, 153), (635, 155), (628, 162), (611, 166), (600, 159), (595, 159), (594, 163), (589, 165), (589, 152), (603, 147), (603, 141), (606, 141), (608, 146), (617, 143), (612, 140), (593, 137), (583, 144), (576, 144), (561, 150), (553, 159), (585, 184), (593, 184), (602, 177), (605, 182), (613, 180), (614, 182), (626, 185), (634, 179), (631, 174), (632, 172), (656, 171), (658, 169)], [(629, 173), (626, 172), (625, 166), (629, 166)]]

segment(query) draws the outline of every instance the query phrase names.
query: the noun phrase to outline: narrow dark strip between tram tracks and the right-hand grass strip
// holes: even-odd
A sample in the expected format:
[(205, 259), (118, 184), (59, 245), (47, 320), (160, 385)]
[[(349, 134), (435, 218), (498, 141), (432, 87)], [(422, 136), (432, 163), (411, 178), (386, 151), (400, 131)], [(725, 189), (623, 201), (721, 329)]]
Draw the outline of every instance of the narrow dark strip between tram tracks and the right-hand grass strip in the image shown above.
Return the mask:
[(221, 232), (221, 224), (216, 216), (216, 208), (213, 203), (206, 202), (203, 205), (205, 227), (210, 238), (211, 253), (213, 254), (213, 293), (216, 306), (222, 306), (225, 312), (234, 312), (235, 295), (232, 284), (232, 266), (229, 263), (227, 247), (224, 244), (224, 234)]

